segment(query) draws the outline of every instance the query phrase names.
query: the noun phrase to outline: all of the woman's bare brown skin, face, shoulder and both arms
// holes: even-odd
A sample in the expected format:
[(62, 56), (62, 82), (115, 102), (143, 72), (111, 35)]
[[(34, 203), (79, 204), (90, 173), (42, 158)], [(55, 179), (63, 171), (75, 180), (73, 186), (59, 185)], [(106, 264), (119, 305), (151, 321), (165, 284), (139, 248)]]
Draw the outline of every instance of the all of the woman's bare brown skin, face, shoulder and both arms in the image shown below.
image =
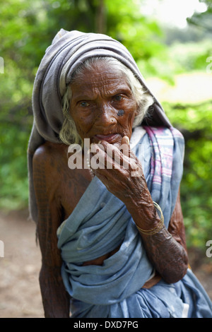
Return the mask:
[[(95, 70), (84, 71), (83, 77), (76, 79), (71, 89), (70, 113), (78, 133), (83, 139), (90, 138), (93, 148), (98, 148), (101, 160), (110, 160), (113, 165), (110, 170), (98, 168), (93, 172), (112, 194), (125, 203), (136, 225), (144, 230), (153, 229), (160, 218), (146, 186), (142, 166), (128, 145), (137, 105), (126, 79), (100, 64)], [(101, 144), (97, 146), (99, 141)], [(119, 149), (122, 144), (126, 146), (124, 151)], [(112, 148), (121, 162), (129, 163), (127, 169), (114, 167), (116, 161)], [(61, 280), (56, 232), (91, 181), (89, 170), (69, 169), (67, 151), (68, 146), (64, 144), (46, 142), (36, 150), (33, 158), (39, 213), (37, 235), (42, 251), (40, 287), (46, 317), (69, 317), (69, 295)], [(94, 156), (95, 152), (90, 155), (91, 158)], [(131, 177), (135, 168), (138, 176)], [(183, 277), (187, 271), (187, 251), (179, 195), (169, 230), (163, 227), (155, 235), (141, 233), (141, 239), (160, 278), (167, 283), (175, 283)], [(101, 265), (115, 251), (84, 264)], [(157, 281), (158, 276), (145, 287), (151, 287)]]

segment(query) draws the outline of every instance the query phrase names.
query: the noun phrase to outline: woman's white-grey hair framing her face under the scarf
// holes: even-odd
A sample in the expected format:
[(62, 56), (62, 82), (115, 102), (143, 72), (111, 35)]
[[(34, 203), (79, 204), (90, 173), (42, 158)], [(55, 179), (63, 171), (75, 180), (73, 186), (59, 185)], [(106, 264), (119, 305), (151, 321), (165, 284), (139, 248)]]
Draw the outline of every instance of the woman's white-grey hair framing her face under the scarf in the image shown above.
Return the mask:
[[(78, 69), (71, 76), (71, 83), (77, 78), (80, 78), (85, 69), (93, 69), (93, 67), (99, 63), (99, 61), (104, 61), (108, 67), (113, 67), (117, 71), (121, 71), (126, 77), (126, 81), (131, 88), (131, 93), (134, 95), (138, 107), (138, 114), (134, 119), (133, 128), (141, 124), (143, 118), (147, 114), (148, 108), (153, 105), (153, 97), (148, 93), (139, 80), (134, 76), (134, 73), (124, 66), (122, 62), (114, 59), (112, 57), (92, 57), (87, 59), (81, 66), (78, 66)], [(62, 97), (62, 112), (64, 114), (64, 123), (61, 127), (59, 133), (59, 138), (61, 141), (67, 145), (76, 143), (83, 146), (83, 141), (81, 136), (79, 136), (78, 131), (76, 130), (75, 122), (73, 121), (70, 114), (70, 103), (71, 103), (71, 83), (67, 86), (66, 92)]]

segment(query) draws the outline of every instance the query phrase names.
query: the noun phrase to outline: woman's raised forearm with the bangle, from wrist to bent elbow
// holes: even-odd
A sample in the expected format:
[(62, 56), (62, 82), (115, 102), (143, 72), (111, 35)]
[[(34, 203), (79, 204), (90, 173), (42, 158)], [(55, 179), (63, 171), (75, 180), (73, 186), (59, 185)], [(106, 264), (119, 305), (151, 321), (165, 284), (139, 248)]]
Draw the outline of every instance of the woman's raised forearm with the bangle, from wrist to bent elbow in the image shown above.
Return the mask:
[[(160, 225), (160, 215), (158, 215), (151, 198), (149, 201), (133, 203), (128, 206), (129, 212), (134, 222), (142, 230), (152, 230)], [(180, 222), (180, 220), (179, 220)], [(188, 257), (187, 251), (182, 244), (176, 241), (165, 226), (151, 235), (140, 232), (148, 259), (153, 263), (156, 271), (160, 273), (167, 283), (175, 283), (187, 272)]]

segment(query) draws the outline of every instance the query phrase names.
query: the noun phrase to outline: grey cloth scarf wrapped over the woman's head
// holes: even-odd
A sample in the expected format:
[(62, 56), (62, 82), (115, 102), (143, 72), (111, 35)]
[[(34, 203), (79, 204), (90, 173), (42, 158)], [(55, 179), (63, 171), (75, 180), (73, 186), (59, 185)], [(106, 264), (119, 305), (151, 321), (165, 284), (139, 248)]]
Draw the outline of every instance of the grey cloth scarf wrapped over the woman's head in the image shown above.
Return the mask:
[[(33, 87), (34, 121), (28, 144), (28, 177), (30, 218), (35, 222), (37, 204), (33, 185), (33, 155), (45, 141), (61, 143), (59, 131), (64, 121), (61, 109), (62, 96), (70, 83), (72, 73), (90, 57), (113, 57), (121, 61), (151, 93), (133, 57), (120, 42), (102, 34), (59, 30), (52, 40), (52, 45), (46, 49)], [(152, 106), (150, 124), (170, 127), (163, 107), (154, 96), (153, 98), (155, 102)]]

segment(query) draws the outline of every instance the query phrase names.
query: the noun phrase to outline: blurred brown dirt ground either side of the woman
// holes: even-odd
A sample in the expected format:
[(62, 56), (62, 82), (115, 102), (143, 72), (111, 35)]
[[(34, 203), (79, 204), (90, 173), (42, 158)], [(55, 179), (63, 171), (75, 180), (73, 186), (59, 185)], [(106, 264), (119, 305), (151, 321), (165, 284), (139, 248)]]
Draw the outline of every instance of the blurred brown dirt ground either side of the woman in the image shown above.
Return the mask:
[[(35, 223), (28, 213), (0, 212), (0, 318), (44, 317), (38, 275), (40, 249), (35, 244)], [(212, 258), (190, 253), (192, 268), (212, 300)]]

